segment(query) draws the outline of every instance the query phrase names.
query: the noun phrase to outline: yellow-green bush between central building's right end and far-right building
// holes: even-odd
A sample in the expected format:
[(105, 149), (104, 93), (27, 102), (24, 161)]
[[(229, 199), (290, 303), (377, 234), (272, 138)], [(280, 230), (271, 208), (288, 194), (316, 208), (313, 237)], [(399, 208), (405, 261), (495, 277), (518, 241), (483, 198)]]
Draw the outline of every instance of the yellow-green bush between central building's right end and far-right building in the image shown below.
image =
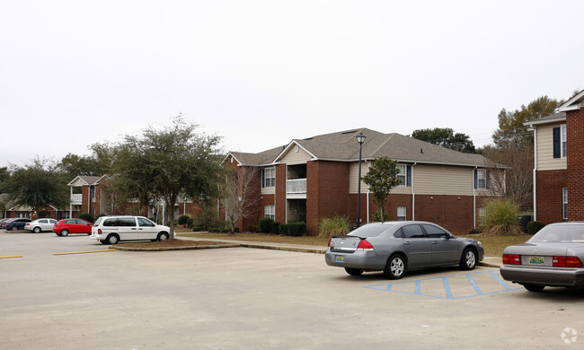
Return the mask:
[(495, 198), (487, 202), (485, 232), (511, 235), (521, 232), (518, 223), (520, 206), (510, 198)]

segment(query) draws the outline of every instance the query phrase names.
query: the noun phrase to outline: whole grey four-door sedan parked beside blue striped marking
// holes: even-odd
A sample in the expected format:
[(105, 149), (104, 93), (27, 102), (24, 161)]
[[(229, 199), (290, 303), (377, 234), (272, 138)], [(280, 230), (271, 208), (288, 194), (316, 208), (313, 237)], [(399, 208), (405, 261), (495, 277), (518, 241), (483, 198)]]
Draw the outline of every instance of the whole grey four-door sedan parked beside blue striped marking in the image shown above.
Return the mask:
[(482, 260), (482, 243), (456, 237), (435, 223), (369, 223), (346, 236), (333, 237), (324, 255), (326, 264), (344, 267), (352, 276), (384, 271), (402, 278), (409, 269), (458, 265), (472, 270)]

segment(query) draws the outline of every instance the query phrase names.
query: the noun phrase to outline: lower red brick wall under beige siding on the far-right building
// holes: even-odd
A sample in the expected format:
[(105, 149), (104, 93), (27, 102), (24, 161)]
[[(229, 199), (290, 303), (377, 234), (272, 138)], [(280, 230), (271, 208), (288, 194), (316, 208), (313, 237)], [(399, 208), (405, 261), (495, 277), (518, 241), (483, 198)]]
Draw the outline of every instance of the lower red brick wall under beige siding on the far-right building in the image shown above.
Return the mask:
[(568, 186), (568, 171), (537, 171), (535, 180), (537, 221), (561, 222), (562, 188)]

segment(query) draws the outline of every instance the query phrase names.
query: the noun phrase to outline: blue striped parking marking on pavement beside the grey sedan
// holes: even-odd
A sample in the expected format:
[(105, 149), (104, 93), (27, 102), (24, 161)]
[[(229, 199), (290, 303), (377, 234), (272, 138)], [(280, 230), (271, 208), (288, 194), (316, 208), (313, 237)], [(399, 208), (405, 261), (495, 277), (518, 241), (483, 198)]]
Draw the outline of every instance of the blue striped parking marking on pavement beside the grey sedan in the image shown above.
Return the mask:
[(390, 284), (373, 284), (366, 285), (363, 288), (382, 292), (429, 296), (446, 300), (460, 300), (523, 289), (521, 287), (509, 287), (509, 284), (503, 281), (500, 276), (497, 276), (494, 271), (430, 277)]

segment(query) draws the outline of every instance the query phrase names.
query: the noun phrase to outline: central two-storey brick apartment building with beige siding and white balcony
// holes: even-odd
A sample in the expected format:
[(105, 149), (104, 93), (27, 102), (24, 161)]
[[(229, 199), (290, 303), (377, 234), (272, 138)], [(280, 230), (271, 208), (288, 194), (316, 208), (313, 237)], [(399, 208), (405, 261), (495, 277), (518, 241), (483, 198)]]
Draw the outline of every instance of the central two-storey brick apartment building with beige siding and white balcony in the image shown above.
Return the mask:
[[(492, 196), (490, 162), (482, 155), (361, 128), (295, 139), (261, 153), (228, 153), (223, 161), (226, 167), (261, 169), (252, 186), (259, 203), (253, 214), (239, 221), (239, 229), (249, 230), (262, 217), (280, 223), (305, 222), (310, 234), (318, 232), (323, 217), (348, 215), (356, 223), (356, 136), (361, 133), (366, 136), (362, 176), (376, 158), (399, 162), (402, 185), (394, 188), (385, 208), (390, 220), (426, 220), (452, 232), (469, 232), (479, 225), (483, 200)], [(376, 208), (363, 182), (360, 197), (361, 223), (369, 223)]]

